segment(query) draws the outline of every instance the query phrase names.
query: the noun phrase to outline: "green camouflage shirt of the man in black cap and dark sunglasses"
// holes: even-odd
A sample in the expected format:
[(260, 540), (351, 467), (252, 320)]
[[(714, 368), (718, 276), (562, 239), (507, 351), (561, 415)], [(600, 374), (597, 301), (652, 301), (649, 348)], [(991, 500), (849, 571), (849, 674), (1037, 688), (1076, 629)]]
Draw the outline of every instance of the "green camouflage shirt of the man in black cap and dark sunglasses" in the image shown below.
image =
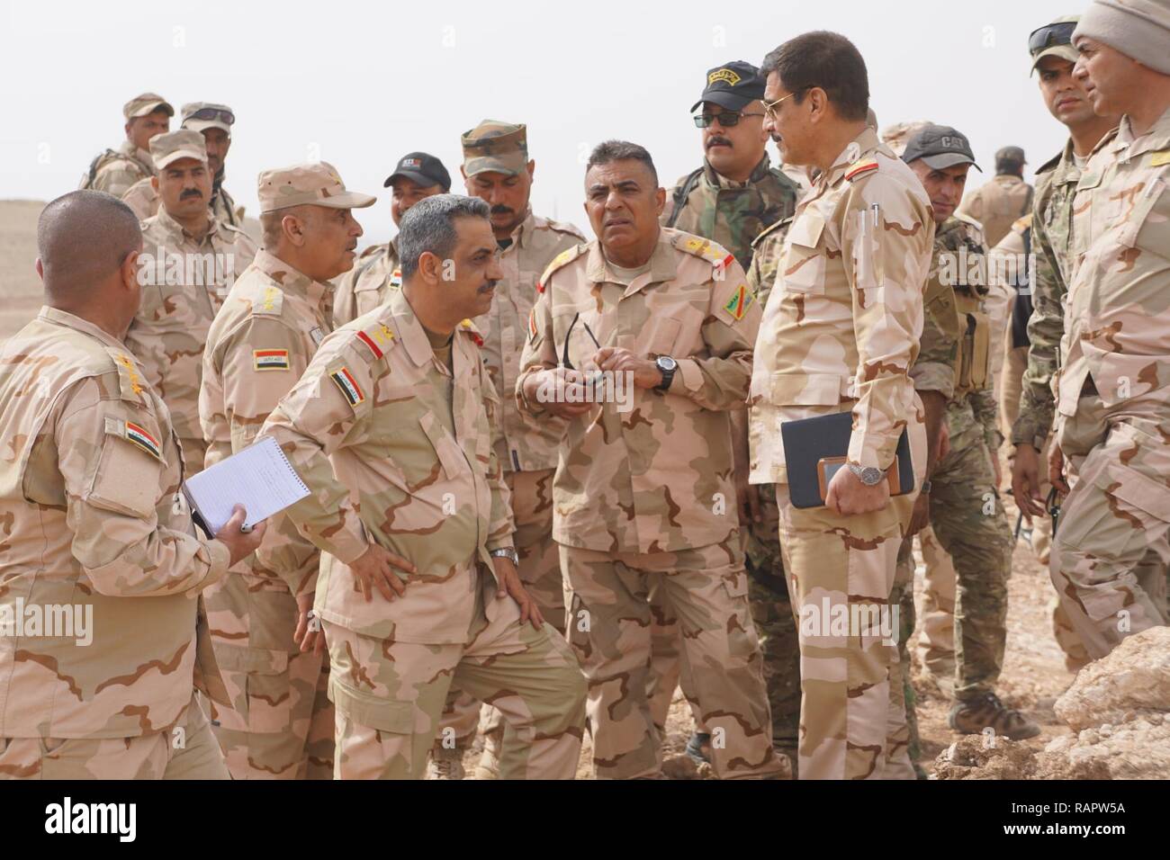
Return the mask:
[[(675, 198), (683, 192), (687, 197), (676, 212)], [(799, 193), (796, 183), (771, 166), (766, 152), (743, 183), (720, 176), (704, 159), (702, 167), (681, 177), (667, 193), (660, 220), (665, 227), (718, 242), (746, 269), (756, 236), (791, 216)]]

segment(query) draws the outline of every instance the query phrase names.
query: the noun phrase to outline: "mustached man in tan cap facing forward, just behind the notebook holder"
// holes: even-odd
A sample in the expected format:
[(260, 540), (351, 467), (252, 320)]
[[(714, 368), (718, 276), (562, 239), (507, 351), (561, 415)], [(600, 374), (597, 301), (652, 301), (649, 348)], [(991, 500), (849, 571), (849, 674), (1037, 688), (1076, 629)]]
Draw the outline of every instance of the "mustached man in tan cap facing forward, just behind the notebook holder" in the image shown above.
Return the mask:
[(212, 195), (204, 136), (159, 135), (150, 142), (158, 174), (149, 181), (163, 205), (143, 223), (143, 301), (126, 333), (146, 379), (171, 410), (187, 474), (204, 468), (199, 426), (204, 345), (215, 314), (256, 255), (256, 245), (208, 207)]

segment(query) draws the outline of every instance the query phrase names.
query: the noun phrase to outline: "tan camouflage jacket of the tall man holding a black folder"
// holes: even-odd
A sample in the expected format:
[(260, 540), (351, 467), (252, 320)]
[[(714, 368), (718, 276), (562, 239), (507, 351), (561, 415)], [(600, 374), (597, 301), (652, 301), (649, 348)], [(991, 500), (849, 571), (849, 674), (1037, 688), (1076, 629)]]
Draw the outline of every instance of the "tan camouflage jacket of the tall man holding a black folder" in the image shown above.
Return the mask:
[(852, 463), (894, 461), (934, 235), (922, 184), (869, 129), (801, 198), (756, 343), (752, 483), (787, 483), (780, 424), (834, 412), (853, 412)]

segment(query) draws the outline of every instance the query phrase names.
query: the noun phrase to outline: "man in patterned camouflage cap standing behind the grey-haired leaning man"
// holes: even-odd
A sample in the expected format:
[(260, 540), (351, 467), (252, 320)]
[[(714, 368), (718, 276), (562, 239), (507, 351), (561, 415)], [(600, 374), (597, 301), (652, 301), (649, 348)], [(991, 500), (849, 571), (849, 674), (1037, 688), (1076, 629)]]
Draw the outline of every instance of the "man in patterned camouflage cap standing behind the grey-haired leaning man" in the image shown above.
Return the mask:
[[(467, 193), (491, 207), (491, 231), (503, 270), (491, 310), (475, 324), (483, 337), (483, 360), (501, 399), (496, 459), (508, 482), (516, 521), (519, 579), (544, 619), (564, 633), (564, 578), (552, 539), (552, 475), (565, 422), (546, 415), (536, 419), (521, 411), (515, 391), (541, 273), (560, 254), (584, 242), (585, 236), (571, 223), (532, 212), (536, 161), (529, 158), (525, 125), (484, 119), (464, 133), (461, 143), (460, 172)], [(479, 722), (479, 702), (455, 687), (440, 737), (435, 738), (433, 777), (462, 776), (462, 754), (475, 738)], [(476, 766), (481, 779), (495, 778), (500, 758), (508, 752), (501, 749), (503, 731), (500, 711), (489, 709), (483, 721), (483, 756)]]

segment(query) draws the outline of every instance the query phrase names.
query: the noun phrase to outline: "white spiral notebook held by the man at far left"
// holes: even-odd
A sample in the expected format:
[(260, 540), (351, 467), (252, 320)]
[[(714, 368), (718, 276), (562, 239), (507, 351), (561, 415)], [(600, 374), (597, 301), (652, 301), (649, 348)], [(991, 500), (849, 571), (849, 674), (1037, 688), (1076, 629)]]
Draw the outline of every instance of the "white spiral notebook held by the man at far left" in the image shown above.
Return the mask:
[(247, 511), (245, 528), (252, 528), (273, 514), (309, 495), (309, 488), (271, 436), (183, 482), (183, 495), (191, 505), (195, 523), (209, 536), (232, 518), (232, 508)]

